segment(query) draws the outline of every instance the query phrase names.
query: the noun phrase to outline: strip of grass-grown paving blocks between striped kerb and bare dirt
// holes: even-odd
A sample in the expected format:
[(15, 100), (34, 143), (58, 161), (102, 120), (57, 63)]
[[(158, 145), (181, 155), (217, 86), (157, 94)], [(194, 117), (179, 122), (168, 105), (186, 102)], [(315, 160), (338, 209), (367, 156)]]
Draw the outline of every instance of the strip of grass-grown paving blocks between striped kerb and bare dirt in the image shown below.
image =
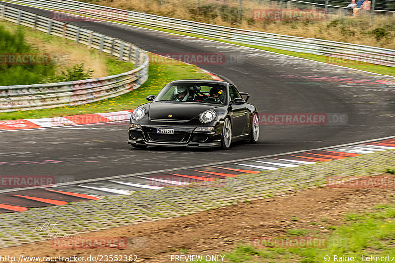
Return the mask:
[[(218, 187), (166, 187), (128, 196), (0, 215), (0, 248), (194, 214), (246, 200), (325, 186), (328, 177), (373, 176), (394, 167), (395, 150), (221, 180)], [(212, 186), (212, 184), (210, 184)], [(52, 233), (52, 236), (51, 234)], [(92, 233), (91, 236), (94, 236)]]

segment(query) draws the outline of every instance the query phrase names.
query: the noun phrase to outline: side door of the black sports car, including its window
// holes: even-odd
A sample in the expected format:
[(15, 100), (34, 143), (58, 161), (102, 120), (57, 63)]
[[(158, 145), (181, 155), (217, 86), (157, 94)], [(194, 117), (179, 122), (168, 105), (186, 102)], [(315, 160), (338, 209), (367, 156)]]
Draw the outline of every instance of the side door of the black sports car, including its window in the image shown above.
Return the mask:
[[(229, 97), (232, 102), (236, 98), (242, 98), (236, 87), (229, 86)], [(230, 111), (232, 112), (232, 133), (233, 136), (241, 135), (244, 133), (245, 126), (247, 125), (248, 112), (244, 104), (230, 103)]]

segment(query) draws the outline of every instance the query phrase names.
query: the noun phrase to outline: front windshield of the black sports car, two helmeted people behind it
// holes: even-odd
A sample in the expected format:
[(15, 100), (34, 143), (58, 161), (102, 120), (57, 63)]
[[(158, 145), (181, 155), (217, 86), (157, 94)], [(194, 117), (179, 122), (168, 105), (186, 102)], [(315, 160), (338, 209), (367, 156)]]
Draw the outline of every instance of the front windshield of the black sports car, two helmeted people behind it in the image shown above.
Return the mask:
[(158, 94), (155, 101), (180, 101), (224, 104), (226, 87), (210, 83), (168, 84)]

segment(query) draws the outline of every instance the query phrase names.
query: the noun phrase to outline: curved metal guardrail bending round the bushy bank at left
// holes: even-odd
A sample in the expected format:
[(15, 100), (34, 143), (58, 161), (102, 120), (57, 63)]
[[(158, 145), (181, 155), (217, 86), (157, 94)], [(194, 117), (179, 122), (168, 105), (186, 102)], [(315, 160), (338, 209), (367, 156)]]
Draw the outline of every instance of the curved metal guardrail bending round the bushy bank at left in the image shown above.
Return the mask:
[(31, 27), (45, 33), (74, 40), (101, 52), (134, 63), (135, 69), (96, 79), (79, 81), (0, 86), (0, 112), (81, 105), (122, 95), (148, 78), (149, 59), (136, 46), (97, 32), (0, 4), (0, 19)]

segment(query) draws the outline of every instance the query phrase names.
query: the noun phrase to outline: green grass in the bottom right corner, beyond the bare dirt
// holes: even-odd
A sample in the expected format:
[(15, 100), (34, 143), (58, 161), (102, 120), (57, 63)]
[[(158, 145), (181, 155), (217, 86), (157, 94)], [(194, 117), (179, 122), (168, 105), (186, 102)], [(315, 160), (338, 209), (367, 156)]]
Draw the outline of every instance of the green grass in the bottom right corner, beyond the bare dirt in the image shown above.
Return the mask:
[[(376, 206), (373, 212), (348, 214), (339, 227), (327, 226), (326, 228), (332, 231), (325, 235), (319, 234), (319, 237), (326, 238), (326, 246), (322, 248), (262, 248), (250, 244), (239, 244), (233, 251), (219, 254), (225, 255), (230, 262), (243, 263), (340, 262), (339, 258), (337, 261), (334, 260), (334, 255), (356, 257), (356, 261), (342, 262), (362, 262), (362, 255), (365, 261), (367, 256), (395, 255), (395, 203)], [(307, 230), (303, 233), (301, 230), (303, 229), (288, 230), (288, 233), (296, 231), (308, 235)], [(330, 260), (325, 261), (325, 256), (330, 256)]]

